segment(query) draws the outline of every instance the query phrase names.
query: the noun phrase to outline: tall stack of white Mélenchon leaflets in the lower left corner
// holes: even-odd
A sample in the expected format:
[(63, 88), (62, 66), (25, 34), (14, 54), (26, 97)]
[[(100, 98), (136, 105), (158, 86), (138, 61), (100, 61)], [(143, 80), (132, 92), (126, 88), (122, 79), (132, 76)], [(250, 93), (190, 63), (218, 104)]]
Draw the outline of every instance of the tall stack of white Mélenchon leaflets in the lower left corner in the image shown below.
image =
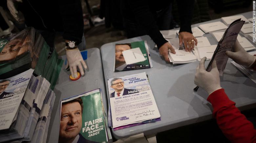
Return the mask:
[(1, 141), (46, 142), (55, 94), (45, 78), (32, 73), (0, 80), (0, 111), (5, 115), (0, 118), (6, 122), (0, 125)]

